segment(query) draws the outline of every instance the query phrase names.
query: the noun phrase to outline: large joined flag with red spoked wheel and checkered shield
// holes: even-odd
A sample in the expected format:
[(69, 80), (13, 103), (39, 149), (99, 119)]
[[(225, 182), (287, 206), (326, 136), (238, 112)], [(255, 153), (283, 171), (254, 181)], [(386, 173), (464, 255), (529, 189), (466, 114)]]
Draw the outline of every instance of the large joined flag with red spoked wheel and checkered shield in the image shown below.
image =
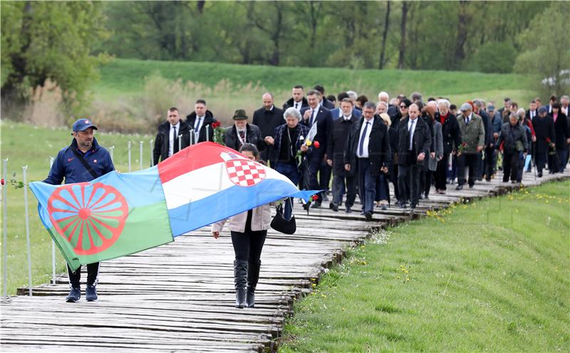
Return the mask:
[(293, 196), (284, 175), (214, 142), (192, 145), (155, 167), (110, 172), (86, 183), (30, 183), (38, 213), (73, 270), (170, 243), (175, 237)]

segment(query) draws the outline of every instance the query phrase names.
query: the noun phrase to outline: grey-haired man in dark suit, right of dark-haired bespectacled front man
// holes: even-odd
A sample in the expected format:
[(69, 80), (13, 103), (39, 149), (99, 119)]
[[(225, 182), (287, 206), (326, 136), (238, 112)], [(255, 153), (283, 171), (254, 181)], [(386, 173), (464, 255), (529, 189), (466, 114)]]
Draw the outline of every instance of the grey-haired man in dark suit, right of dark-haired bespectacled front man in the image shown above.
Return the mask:
[[(400, 103), (401, 104), (401, 103)], [(406, 179), (410, 174), (410, 208), (415, 209), (419, 201), (420, 168), (430, 154), (431, 132), (423, 119), (419, 119), (420, 108), (415, 103), (408, 107), (408, 116), (398, 124), (398, 189), (400, 209), (406, 206)]]

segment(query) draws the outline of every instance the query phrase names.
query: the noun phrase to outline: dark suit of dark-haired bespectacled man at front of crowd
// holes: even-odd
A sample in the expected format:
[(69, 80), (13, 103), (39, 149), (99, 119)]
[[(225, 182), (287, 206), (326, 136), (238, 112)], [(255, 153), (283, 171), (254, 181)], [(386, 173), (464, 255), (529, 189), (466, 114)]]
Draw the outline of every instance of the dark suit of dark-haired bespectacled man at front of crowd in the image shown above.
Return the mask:
[(362, 211), (373, 213), (376, 196), (376, 183), (382, 174), (380, 168), (388, 167), (392, 152), (388, 127), (381, 119), (374, 118), (368, 137), (368, 158), (358, 157), (361, 142), (361, 130), (366, 120), (360, 119), (353, 124), (344, 149), (344, 164), (351, 165), (351, 171), (358, 175), (358, 193), (362, 202)]

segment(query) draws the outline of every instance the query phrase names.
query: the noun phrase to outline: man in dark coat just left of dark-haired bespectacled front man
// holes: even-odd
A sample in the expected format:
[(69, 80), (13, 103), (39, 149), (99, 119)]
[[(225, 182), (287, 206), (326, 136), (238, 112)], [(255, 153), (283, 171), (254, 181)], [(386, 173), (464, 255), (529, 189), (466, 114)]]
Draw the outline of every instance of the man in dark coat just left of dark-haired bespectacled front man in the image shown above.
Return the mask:
[(334, 120), (333, 129), (326, 144), (326, 162), (333, 167), (333, 201), (328, 206), (333, 211), (338, 211), (338, 206), (343, 201), (343, 191), (346, 190), (345, 210), (348, 214), (356, 199), (356, 178), (354, 171), (344, 169), (344, 147), (348, 140), (348, 133), (358, 122), (358, 117), (353, 115), (352, 100), (348, 97), (341, 101), (341, 111), (342, 117)]

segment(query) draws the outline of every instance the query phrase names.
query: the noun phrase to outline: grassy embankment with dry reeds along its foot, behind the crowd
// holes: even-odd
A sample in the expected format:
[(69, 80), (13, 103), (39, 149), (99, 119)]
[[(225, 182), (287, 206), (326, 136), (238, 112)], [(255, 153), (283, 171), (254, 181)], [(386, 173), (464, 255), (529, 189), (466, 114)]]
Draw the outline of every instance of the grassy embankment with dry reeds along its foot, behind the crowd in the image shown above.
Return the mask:
[[(508, 96), (527, 107), (527, 101), (535, 95), (524, 89), (524, 75), (461, 71), (281, 68), (116, 59), (101, 67), (100, 73), (100, 81), (92, 86), (95, 110), (105, 112), (102, 118), (115, 115), (135, 122), (151, 110), (152, 116), (156, 115), (157, 107), (175, 105), (186, 115), (197, 98), (205, 98), (214, 115), (229, 124), (234, 110), (241, 107), (252, 115), (261, 107), (261, 94), (265, 90), (274, 93), (275, 102), (281, 107), (291, 97), (291, 87), (299, 84), (306, 88), (321, 84), (326, 94), (334, 95), (342, 90), (356, 90), (373, 101), (380, 90), (392, 96), (410, 95), (417, 90), (426, 99), (444, 96), (456, 104), (482, 98), (502, 105), (502, 98)], [(145, 80), (155, 73), (167, 81)], [(175, 83), (178, 79), (180, 85)], [(140, 107), (145, 107), (145, 111), (139, 111)]]

